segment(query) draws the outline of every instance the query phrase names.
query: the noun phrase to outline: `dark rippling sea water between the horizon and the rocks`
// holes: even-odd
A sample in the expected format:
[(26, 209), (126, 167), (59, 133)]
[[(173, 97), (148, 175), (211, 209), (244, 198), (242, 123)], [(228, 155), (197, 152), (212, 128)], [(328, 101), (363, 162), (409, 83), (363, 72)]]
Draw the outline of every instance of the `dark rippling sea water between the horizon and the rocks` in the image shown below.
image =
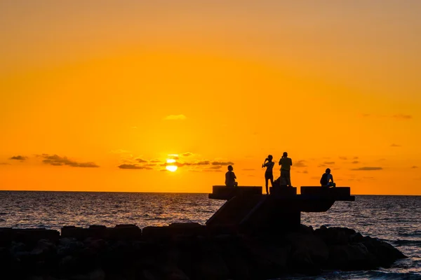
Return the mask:
[[(0, 228), (204, 224), (223, 203), (209, 200), (207, 194), (0, 191)], [(409, 258), (390, 269), (286, 279), (421, 279), (421, 196), (357, 195), (355, 202), (335, 202), (325, 213), (302, 213), (302, 223), (314, 229), (352, 228), (389, 242)]]

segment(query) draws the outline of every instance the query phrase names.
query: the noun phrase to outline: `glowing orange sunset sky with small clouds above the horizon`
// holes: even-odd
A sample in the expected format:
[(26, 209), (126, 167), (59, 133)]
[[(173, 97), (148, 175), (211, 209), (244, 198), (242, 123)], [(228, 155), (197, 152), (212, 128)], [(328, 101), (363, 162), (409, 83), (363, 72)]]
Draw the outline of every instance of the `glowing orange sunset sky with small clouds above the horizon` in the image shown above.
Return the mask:
[(0, 190), (421, 195), (420, 1), (142, 2), (0, 2)]

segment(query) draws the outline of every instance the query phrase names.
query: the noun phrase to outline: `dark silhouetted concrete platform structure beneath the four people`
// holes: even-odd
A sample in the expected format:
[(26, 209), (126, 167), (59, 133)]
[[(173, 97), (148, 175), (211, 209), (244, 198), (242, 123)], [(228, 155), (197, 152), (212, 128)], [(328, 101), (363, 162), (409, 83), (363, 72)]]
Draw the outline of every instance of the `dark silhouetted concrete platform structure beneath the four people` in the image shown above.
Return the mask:
[(354, 201), (349, 187), (271, 188), (262, 195), (258, 186), (213, 186), (209, 198), (227, 200), (206, 225), (236, 226), (243, 230), (293, 230), (300, 227), (301, 212), (328, 211), (335, 201)]

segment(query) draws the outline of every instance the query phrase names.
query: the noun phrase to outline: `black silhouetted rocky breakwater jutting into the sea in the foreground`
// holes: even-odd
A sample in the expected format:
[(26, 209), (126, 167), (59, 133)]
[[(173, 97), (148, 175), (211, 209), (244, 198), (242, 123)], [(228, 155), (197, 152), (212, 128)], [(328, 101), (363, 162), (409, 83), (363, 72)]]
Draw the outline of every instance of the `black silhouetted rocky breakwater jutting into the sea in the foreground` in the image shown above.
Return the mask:
[(197, 223), (140, 229), (0, 228), (0, 279), (271, 279), (390, 267), (401, 251), (349, 228), (241, 233)]

